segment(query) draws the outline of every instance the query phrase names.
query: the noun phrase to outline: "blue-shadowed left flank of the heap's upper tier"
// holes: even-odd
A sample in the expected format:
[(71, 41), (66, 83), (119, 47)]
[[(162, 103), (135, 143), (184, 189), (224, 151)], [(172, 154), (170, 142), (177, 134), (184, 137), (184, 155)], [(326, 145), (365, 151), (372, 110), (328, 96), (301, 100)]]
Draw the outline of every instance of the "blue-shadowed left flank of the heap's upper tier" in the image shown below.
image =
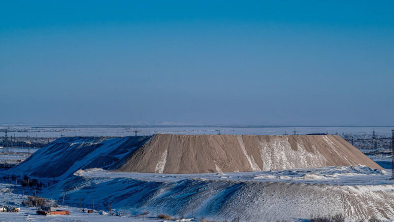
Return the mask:
[(62, 137), (37, 150), (12, 171), (36, 177), (66, 177), (80, 169), (106, 168), (150, 137)]

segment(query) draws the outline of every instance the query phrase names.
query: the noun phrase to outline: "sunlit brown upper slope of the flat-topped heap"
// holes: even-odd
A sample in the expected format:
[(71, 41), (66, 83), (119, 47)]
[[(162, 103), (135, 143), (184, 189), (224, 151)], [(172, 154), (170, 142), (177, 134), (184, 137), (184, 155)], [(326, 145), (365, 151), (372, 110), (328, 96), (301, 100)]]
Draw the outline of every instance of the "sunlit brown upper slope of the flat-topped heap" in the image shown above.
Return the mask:
[(111, 169), (210, 173), (364, 165), (382, 169), (337, 135), (156, 134)]

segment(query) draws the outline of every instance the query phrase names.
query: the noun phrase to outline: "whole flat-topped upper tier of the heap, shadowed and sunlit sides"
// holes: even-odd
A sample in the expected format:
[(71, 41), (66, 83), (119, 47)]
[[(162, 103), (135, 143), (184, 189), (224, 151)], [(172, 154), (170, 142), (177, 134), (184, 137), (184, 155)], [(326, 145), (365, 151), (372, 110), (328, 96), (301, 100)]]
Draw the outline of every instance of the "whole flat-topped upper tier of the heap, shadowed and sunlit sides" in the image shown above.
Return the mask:
[(352, 165), (382, 169), (340, 136), (156, 134), (60, 138), (13, 170), (66, 177), (97, 167), (141, 173), (220, 173)]

